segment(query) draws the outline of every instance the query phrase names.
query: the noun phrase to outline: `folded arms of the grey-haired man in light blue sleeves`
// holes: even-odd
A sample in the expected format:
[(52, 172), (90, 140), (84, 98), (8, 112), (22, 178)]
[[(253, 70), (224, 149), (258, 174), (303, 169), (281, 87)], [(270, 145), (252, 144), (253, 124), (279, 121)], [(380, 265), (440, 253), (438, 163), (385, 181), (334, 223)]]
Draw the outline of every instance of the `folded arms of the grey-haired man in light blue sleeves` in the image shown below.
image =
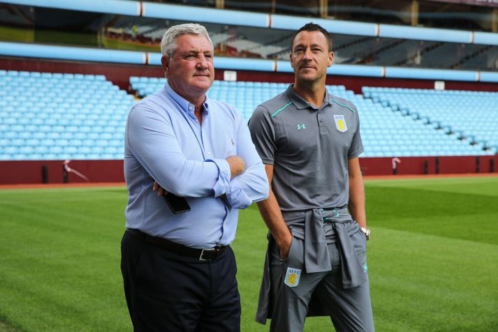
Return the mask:
[(186, 158), (170, 121), (152, 107), (137, 105), (129, 115), (126, 139), (133, 156), (168, 193), (224, 195), (228, 205), (245, 209), (268, 197), (268, 180), (247, 125), (240, 118), (235, 126), (237, 156), (192, 160)]

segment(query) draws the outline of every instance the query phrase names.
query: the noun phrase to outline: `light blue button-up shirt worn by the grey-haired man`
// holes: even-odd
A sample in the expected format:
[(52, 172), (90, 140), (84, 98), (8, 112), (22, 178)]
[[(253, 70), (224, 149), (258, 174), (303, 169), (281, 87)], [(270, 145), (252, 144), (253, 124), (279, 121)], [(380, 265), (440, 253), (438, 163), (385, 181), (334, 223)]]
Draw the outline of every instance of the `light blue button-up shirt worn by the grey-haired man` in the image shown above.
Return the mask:
[[(192, 248), (226, 246), (235, 238), (238, 209), (268, 197), (268, 179), (235, 107), (206, 98), (202, 125), (194, 109), (168, 83), (131, 109), (124, 139), (126, 227)], [(246, 165), (231, 180), (229, 156)], [(152, 190), (154, 180), (186, 197), (191, 211), (172, 213)]]

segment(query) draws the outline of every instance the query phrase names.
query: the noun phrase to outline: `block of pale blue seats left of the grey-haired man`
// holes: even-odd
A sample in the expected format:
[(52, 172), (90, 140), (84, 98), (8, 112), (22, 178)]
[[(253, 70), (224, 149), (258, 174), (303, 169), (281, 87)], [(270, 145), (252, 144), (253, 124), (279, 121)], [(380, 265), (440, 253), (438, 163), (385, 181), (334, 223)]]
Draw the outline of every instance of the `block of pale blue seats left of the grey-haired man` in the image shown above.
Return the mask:
[(0, 70), (0, 160), (122, 159), (133, 103), (103, 75)]

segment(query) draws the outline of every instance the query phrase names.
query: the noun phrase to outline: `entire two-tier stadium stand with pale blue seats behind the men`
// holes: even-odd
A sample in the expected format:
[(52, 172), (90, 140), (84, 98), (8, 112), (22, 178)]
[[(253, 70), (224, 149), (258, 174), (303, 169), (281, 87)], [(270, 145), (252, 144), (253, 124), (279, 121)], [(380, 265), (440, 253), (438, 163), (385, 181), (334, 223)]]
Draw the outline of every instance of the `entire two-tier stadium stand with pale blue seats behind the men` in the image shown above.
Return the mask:
[[(293, 29), (309, 22), (309, 17), (132, 0), (105, 0), (96, 7), (86, 1), (78, 6), (66, 1), (40, 1), (34, 5), (31, 0), (7, 2), (34, 6), (23, 8), (39, 12), (38, 18), (45, 13), (38, 6), (73, 15), (85, 11), (94, 13), (95, 20), (100, 17), (105, 22), (105, 30), (99, 38), (105, 40), (105, 36), (111, 36), (117, 42), (111, 45), (126, 41), (119, 45), (136, 44), (137, 48), (109, 50), (75, 47), (69, 42), (61, 43), (63, 45), (43, 43), (43, 40), (19, 43), (22, 40), (14, 39), (0, 41), (3, 58), (122, 63), (142, 68), (158, 66), (159, 52), (139, 46), (156, 47), (169, 25), (198, 18), (212, 33), (217, 70), (278, 74), (280, 81), (293, 71), (288, 63)], [(334, 77), (375, 77), (377, 81), (370, 82), (379, 83), (386, 79), (498, 82), (496, 33), (325, 18), (314, 21), (332, 33), (335, 65), (329, 68), (328, 74)], [(9, 24), (15, 22), (8, 21)], [(244, 26), (240, 26), (240, 22), (244, 22)], [(124, 123), (133, 105), (133, 96), (119, 90), (103, 75), (71, 74), (67, 68), (65, 71), (66, 74), (0, 70), (0, 160), (123, 158)], [(119, 80), (127, 80), (130, 75), (123, 76)], [(131, 76), (129, 82), (138, 96), (148, 96), (162, 89), (165, 79)], [(249, 120), (256, 105), (286, 87), (283, 83), (215, 80), (208, 94), (235, 105)], [(328, 89), (332, 95), (347, 98), (358, 106), (364, 157), (497, 153), (497, 93), (365, 87), (362, 95), (344, 85), (331, 85)]]

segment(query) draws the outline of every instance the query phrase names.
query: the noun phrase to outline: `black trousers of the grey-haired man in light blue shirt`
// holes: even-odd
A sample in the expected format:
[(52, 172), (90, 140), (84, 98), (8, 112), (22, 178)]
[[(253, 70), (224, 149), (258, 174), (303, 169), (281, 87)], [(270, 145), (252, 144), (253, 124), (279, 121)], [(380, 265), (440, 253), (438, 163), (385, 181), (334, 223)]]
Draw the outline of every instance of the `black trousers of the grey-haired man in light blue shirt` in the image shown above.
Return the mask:
[(230, 247), (202, 262), (125, 232), (121, 253), (134, 331), (240, 331), (237, 266)]

